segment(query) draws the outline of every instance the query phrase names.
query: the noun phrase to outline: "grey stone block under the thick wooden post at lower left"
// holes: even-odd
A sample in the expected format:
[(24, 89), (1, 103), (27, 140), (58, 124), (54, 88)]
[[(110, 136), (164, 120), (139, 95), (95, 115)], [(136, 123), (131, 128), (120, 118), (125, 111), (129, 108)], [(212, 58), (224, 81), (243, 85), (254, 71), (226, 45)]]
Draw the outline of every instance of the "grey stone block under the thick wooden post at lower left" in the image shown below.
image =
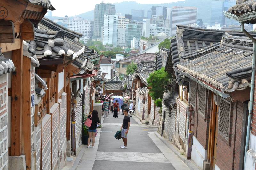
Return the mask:
[(9, 156), (8, 157), (8, 169), (9, 170), (26, 170), (25, 155)]

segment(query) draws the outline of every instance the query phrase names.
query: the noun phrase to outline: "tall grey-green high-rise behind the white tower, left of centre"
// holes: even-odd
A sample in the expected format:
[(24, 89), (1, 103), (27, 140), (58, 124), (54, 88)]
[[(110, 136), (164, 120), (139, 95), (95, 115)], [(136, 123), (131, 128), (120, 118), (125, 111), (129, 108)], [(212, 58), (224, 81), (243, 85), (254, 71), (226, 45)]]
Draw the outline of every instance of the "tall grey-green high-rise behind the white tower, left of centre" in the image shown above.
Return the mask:
[(94, 30), (93, 36), (101, 36), (101, 27), (103, 27), (104, 15), (115, 15), (116, 8), (113, 4), (100, 3), (95, 5), (94, 9)]

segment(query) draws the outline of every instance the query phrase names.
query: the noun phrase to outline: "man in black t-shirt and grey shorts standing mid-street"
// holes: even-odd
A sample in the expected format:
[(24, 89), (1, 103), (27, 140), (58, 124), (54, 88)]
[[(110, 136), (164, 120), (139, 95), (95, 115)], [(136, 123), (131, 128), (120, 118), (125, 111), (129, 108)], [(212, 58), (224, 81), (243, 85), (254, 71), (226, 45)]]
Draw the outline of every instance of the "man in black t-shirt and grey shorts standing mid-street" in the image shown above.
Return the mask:
[(131, 122), (131, 118), (128, 115), (128, 109), (125, 108), (124, 109), (124, 120), (123, 120), (123, 124), (121, 126), (121, 137), (123, 139), (124, 145), (120, 146), (120, 148), (127, 148), (127, 134), (130, 128), (130, 122)]

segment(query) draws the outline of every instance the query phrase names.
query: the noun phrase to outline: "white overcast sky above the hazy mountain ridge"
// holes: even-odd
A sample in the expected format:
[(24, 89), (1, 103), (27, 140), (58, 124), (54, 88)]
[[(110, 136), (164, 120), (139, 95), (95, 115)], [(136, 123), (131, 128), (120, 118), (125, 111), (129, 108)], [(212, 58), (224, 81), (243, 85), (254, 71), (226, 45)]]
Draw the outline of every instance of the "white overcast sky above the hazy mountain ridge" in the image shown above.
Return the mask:
[[(94, 10), (95, 4), (100, 4), (101, 2), (116, 3), (123, 1), (124, 0), (51, 0), (52, 5), (56, 8), (56, 10), (52, 11), (52, 16), (75, 16), (87, 11)], [(161, 4), (177, 1), (182, 0), (136, 0), (136, 2), (140, 4)]]

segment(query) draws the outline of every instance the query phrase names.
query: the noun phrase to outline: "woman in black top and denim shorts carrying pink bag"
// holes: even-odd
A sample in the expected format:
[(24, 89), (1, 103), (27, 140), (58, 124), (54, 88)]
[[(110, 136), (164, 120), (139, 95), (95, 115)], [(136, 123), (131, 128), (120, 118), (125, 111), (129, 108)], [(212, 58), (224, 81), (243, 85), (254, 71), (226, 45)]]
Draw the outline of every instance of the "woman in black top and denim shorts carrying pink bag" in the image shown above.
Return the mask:
[[(92, 114), (88, 116), (88, 119), (92, 121), (91, 126), (89, 127), (88, 133), (89, 133), (89, 138), (88, 138), (88, 144), (87, 148), (94, 148), (94, 143), (95, 143), (95, 133), (97, 132), (97, 124), (100, 125), (100, 119), (98, 117), (98, 111), (93, 110)], [(90, 140), (92, 138), (92, 147), (90, 146)]]

